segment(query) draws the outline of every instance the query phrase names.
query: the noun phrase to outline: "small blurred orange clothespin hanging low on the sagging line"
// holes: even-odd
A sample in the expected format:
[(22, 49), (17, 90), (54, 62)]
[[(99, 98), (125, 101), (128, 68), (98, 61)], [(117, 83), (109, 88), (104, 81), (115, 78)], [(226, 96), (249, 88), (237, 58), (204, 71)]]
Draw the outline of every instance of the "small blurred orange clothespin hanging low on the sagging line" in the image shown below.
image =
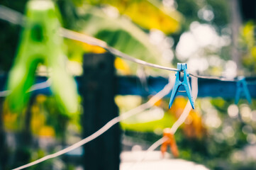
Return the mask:
[(174, 138), (174, 135), (172, 134), (171, 129), (165, 128), (163, 136), (164, 136), (165, 142), (163, 142), (161, 146), (162, 157), (165, 156), (165, 152), (167, 151), (168, 145), (172, 151), (173, 156), (179, 157), (179, 150), (176, 145), (175, 138)]

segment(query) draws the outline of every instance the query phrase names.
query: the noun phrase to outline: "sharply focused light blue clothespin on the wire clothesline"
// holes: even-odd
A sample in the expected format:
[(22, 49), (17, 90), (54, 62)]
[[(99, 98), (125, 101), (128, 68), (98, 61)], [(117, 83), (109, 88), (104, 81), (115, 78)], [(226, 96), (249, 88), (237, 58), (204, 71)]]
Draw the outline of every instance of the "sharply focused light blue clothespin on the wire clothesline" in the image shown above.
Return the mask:
[[(189, 98), (189, 101), (191, 103), (192, 108), (194, 109), (194, 101), (193, 101), (193, 97), (191, 94), (191, 87), (189, 84), (189, 74), (187, 73), (187, 64), (186, 63), (178, 63), (177, 64), (177, 69), (179, 69), (179, 72), (177, 72), (175, 74), (176, 76), (176, 80), (175, 80), (175, 84), (174, 87), (172, 89), (172, 95), (171, 98), (169, 99), (169, 108), (172, 107), (172, 103), (174, 101), (174, 96), (176, 96), (179, 86), (184, 86), (185, 91), (179, 91), (179, 92), (187, 92), (187, 96)], [(183, 81), (182, 81), (182, 77), (180, 77), (180, 71), (184, 72), (184, 77), (183, 77)]]

